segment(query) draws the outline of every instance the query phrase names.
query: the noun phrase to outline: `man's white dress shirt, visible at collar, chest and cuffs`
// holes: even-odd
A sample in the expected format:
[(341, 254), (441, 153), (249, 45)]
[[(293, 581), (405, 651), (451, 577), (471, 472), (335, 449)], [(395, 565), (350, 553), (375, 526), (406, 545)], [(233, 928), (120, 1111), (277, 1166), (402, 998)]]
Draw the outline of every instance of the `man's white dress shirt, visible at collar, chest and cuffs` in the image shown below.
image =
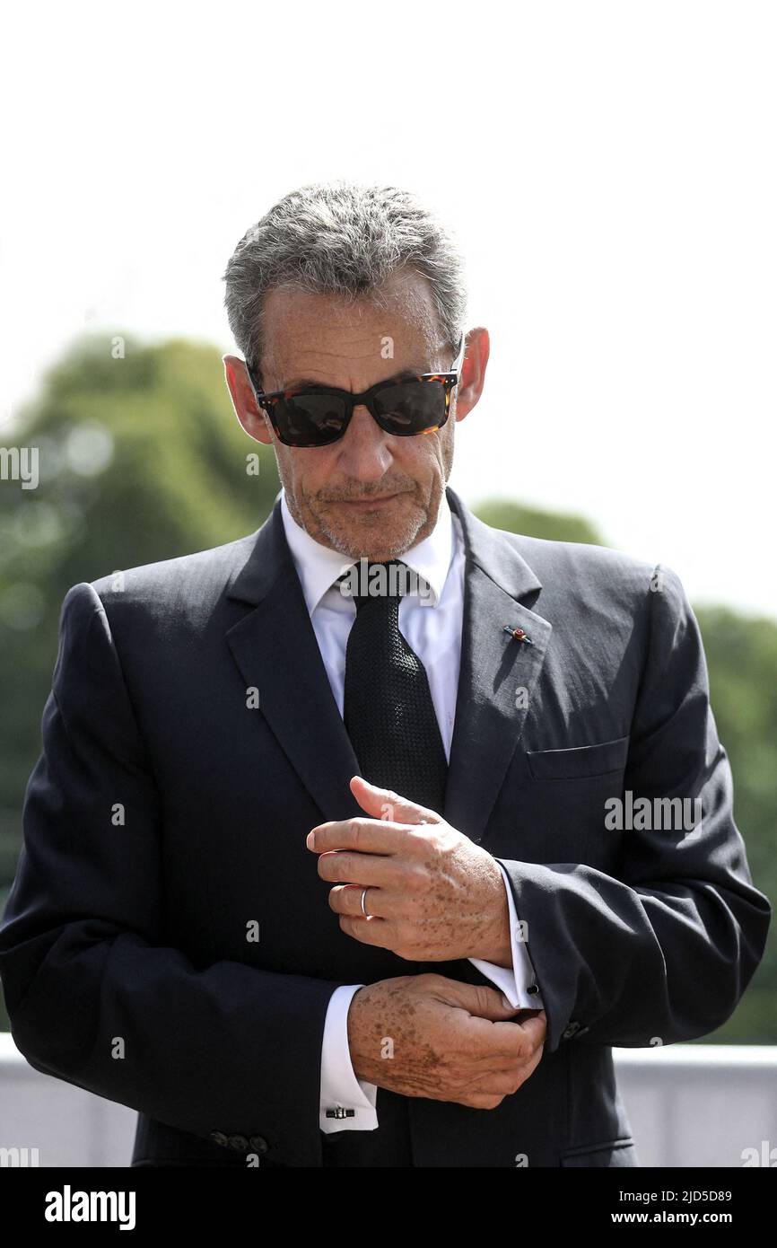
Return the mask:
[[(281, 514), (286, 538), (302, 584), (311, 623), (324, 661), (329, 685), (338, 710), (343, 714), (345, 684), (345, 645), (355, 619), (355, 603), (334, 584), (354, 560), (329, 547), (321, 545), (292, 518), (281, 495)], [(432, 594), (424, 600), (408, 593), (399, 602), (399, 628), (415, 651), (429, 679), (429, 690), (437, 714), (445, 756), (450, 759), (450, 743), (459, 686), (461, 653), (461, 620), (464, 608), (464, 539), (459, 518), (453, 514), (445, 494), (440, 500), (434, 530), (402, 555), (403, 563), (423, 577)], [(369, 776), (365, 779), (369, 780)], [(442, 811), (439, 812), (442, 814)], [(513, 967), (495, 966), (481, 958), (469, 958), (510, 1001), (510, 1005), (541, 1010), (540, 995), (528, 993), (536, 987), (534, 967), (513, 901), (508, 876), (500, 864), (510, 910), (510, 945)], [(378, 1126), (375, 1099), (378, 1087), (357, 1080), (348, 1050), (348, 1008), (353, 995), (364, 985), (343, 985), (334, 990), (327, 1010), (321, 1063), (321, 1129), (374, 1131)], [(349, 1118), (327, 1118), (326, 1111), (335, 1107), (354, 1111)]]

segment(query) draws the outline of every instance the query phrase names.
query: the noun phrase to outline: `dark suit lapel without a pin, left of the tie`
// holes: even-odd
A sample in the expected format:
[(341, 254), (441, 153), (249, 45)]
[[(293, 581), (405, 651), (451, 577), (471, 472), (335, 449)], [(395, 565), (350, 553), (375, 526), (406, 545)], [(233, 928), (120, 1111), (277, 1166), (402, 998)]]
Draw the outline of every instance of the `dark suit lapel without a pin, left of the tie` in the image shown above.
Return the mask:
[(228, 597), (254, 604), (227, 631), (227, 643), (246, 688), (258, 690), (262, 715), (322, 815), (364, 814), (348, 787), (359, 765), (286, 542), (279, 495)]

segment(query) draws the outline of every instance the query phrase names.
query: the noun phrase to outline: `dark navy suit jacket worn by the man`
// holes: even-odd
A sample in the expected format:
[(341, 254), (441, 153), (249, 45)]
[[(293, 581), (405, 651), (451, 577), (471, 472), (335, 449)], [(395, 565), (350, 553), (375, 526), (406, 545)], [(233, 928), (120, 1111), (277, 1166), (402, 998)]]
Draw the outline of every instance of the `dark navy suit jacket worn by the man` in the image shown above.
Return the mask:
[[(509, 874), (548, 1013), (540, 1065), (495, 1109), (380, 1088), (378, 1131), (319, 1131), (338, 985), (489, 981), (362, 945), (328, 906), (304, 840), (363, 814), (359, 768), (278, 498), (249, 537), (62, 605), (0, 973), (31, 1066), (138, 1111), (132, 1164), (636, 1166), (611, 1046), (713, 1031), (758, 965), (771, 907), (677, 575), (448, 499), (466, 570), (442, 814)], [(626, 791), (700, 799), (703, 817), (607, 826)]]

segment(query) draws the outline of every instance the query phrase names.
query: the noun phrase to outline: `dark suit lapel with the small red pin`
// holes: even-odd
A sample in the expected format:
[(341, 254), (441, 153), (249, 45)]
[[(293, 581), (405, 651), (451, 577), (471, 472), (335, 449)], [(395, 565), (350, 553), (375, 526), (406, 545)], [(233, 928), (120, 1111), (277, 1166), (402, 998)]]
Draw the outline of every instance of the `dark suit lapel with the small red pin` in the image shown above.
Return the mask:
[[(504, 782), (551, 625), (530, 609), (541, 583), (511, 542), (483, 524), (449, 488), (464, 530), (464, 619), (444, 817), (479, 841)], [(513, 640), (505, 625), (534, 643)]]

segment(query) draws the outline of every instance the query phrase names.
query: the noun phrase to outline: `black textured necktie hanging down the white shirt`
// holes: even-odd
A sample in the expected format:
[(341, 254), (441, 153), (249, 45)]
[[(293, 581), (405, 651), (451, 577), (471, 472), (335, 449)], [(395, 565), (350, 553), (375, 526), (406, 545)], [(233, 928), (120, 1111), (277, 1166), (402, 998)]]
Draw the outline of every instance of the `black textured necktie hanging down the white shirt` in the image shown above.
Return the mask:
[[(395, 575), (389, 573), (392, 564), (398, 565)], [(393, 559), (383, 567), (383, 583), (397, 593), (354, 594), (357, 618), (345, 649), (345, 731), (365, 780), (442, 815), (445, 748), (427, 669), (399, 631), (405, 565)]]

